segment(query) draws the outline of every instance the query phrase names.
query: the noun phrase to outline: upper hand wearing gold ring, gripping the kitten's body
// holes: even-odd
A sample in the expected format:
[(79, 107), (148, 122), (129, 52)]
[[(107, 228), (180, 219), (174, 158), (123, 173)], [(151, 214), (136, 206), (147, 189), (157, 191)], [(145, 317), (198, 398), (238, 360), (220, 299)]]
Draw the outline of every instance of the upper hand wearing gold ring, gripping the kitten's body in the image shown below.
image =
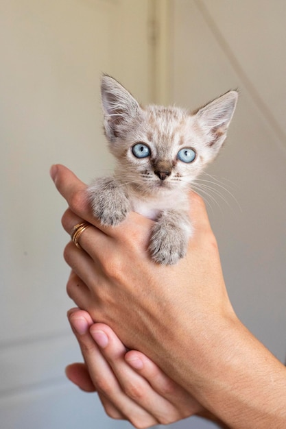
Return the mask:
[[(132, 212), (115, 228), (102, 226), (88, 206), (85, 184), (62, 166), (54, 180), (69, 204), (64, 229), (71, 232), (82, 219), (93, 225), (80, 236), (82, 249), (73, 243), (65, 249), (73, 269), (69, 296), (94, 321), (115, 330), (127, 347), (141, 350), (170, 371), (171, 378), (184, 382), (182, 373), (205, 357), (206, 339), (208, 345), (215, 343), (211, 332), (219, 332), (225, 319), (235, 317), (202, 199), (190, 194), (195, 235), (187, 256), (175, 266), (162, 267), (147, 253), (152, 221)], [(182, 356), (181, 364), (188, 364), (183, 369), (177, 351), (187, 352), (185, 339), (192, 344), (192, 354)]]

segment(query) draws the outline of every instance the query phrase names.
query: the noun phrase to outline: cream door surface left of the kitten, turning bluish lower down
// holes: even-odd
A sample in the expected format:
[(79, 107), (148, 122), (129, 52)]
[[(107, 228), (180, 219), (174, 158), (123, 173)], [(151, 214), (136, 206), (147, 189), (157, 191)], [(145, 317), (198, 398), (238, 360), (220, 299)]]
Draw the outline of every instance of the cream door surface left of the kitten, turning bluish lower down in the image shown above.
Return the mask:
[[(55, 162), (106, 174), (99, 76), (152, 99), (149, 0), (0, 1), (0, 427), (127, 428), (64, 376), (82, 360), (65, 292)], [(130, 37), (130, 35), (132, 37)]]

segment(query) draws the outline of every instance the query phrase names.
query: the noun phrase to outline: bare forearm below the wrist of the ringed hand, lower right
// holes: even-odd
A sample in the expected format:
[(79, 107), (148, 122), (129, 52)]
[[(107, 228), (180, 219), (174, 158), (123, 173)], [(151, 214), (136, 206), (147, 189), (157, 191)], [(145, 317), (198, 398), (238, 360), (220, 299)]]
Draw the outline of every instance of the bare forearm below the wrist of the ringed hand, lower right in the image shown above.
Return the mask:
[(169, 376), (230, 428), (285, 428), (285, 367), (235, 317), (205, 331), (196, 341), (186, 332), (184, 346), (168, 359)]

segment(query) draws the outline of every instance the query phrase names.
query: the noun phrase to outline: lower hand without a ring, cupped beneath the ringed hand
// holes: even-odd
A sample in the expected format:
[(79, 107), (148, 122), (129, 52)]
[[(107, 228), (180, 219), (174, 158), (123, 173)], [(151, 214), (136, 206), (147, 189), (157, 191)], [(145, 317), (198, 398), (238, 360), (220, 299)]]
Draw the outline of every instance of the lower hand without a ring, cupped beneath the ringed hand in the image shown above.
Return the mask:
[(114, 419), (137, 428), (171, 424), (202, 412), (200, 404), (144, 354), (127, 351), (112, 330), (90, 315), (68, 312), (85, 364), (67, 367), (68, 378), (84, 391), (95, 391)]

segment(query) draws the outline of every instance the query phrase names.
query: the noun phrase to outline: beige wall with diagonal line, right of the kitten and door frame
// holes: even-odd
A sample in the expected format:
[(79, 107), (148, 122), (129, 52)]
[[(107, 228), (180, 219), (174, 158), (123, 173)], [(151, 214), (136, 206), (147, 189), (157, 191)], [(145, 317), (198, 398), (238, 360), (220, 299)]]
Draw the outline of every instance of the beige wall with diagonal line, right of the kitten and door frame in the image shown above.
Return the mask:
[[(228, 140), (208, 170), (226, 201), (214, 192), (217, 204), (206, 197), (208, 212), (237, 314), (285, 362), (286, 3), (173, 0), (171, 5), (172, 101), (196, 108), (239, 88)], [(176, 426), (189, 427), (189, 421)], [(195, 426), (201, 427), (213, 426)]]

